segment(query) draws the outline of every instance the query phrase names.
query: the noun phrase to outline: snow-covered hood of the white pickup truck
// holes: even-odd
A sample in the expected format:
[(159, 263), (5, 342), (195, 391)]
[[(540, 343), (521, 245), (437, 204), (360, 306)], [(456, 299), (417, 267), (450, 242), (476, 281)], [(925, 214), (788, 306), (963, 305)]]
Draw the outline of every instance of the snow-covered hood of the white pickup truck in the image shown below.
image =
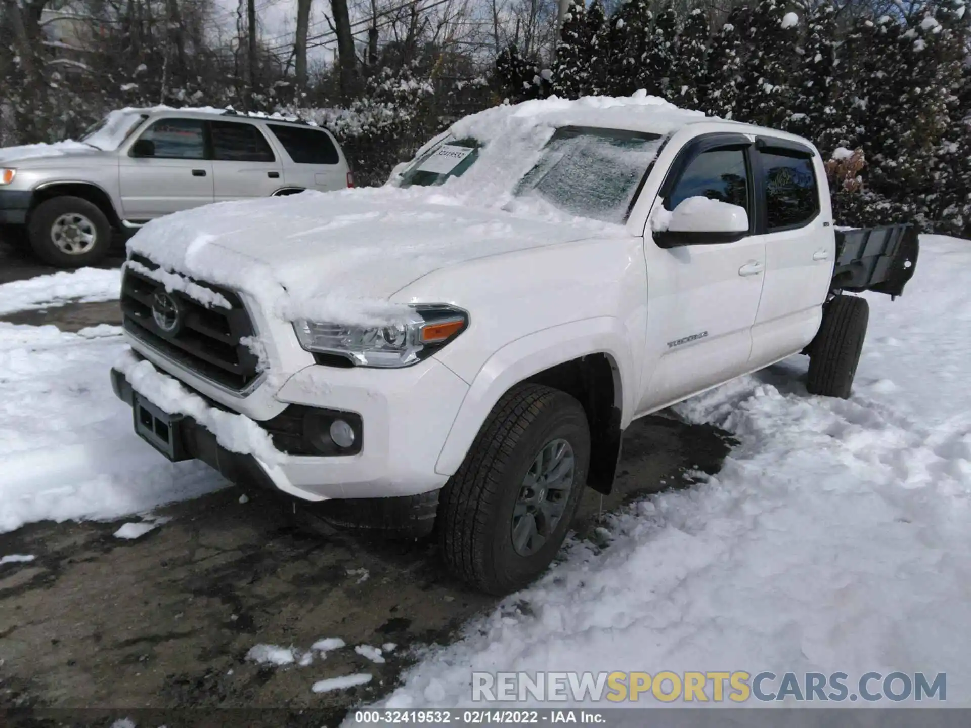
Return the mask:
[(595, 234), (385, 187), (208, 206), (155, 220), (128, 245), (169, 271), (242, 290), (286, 319), (370, 323), (407, 304), (394, 294), (433, 271)]

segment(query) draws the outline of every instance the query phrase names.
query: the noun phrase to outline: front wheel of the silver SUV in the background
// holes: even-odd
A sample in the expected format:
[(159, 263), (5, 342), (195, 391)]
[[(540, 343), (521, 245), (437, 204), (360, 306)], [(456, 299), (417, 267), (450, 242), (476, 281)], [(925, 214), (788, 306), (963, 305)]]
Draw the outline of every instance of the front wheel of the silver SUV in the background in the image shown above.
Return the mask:
[(29, 228), (34, 254), (58, 268), (94, 265), (112, 244), (108, 217), (81, 197), (52, 197), (42, 202), (30, 215)]

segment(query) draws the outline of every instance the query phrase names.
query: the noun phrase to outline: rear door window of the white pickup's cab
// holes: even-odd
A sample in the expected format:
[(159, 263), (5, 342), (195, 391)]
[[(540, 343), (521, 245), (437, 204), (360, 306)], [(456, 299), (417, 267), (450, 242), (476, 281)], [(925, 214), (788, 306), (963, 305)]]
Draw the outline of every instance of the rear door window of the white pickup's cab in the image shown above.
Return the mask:
[(812, 158), (796, 151), (759, 151), (767, 232), (802, 227), (820, 213)]

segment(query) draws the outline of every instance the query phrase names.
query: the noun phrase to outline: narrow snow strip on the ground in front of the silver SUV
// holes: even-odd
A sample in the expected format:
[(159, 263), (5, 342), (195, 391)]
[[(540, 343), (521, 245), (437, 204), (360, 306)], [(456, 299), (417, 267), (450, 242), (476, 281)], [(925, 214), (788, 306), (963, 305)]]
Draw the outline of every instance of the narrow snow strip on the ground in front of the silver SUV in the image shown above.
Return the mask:
[(60, 271), (24, 281), (0, 284), (0, 315), (47, 309), (70, 302), (115, 301), (121, 289), (121, 272), (99, 268)]

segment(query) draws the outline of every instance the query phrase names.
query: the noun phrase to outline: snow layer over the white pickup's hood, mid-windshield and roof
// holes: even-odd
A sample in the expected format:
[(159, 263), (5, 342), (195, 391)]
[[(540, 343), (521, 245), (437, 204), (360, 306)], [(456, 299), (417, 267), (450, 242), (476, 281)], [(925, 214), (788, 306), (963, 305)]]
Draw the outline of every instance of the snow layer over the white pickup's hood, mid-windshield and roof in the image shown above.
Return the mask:
[(626, 234), (620, 225), (548, 205), (519, 199), (511, 204), (517, 182), (557, 127), (666, 134), (703, 117), (644, 93), (496, 107), (461, 119), (429, 143), (451, 134), (484, 145), (464, 175), (441, 186), (392, 183), (207, 206), (152, 221), (129, 250), (170, 271), (250, 293), (264, 311), (285, 319), (386, 323), (402, 314), (387, 299), (437, 269)]

